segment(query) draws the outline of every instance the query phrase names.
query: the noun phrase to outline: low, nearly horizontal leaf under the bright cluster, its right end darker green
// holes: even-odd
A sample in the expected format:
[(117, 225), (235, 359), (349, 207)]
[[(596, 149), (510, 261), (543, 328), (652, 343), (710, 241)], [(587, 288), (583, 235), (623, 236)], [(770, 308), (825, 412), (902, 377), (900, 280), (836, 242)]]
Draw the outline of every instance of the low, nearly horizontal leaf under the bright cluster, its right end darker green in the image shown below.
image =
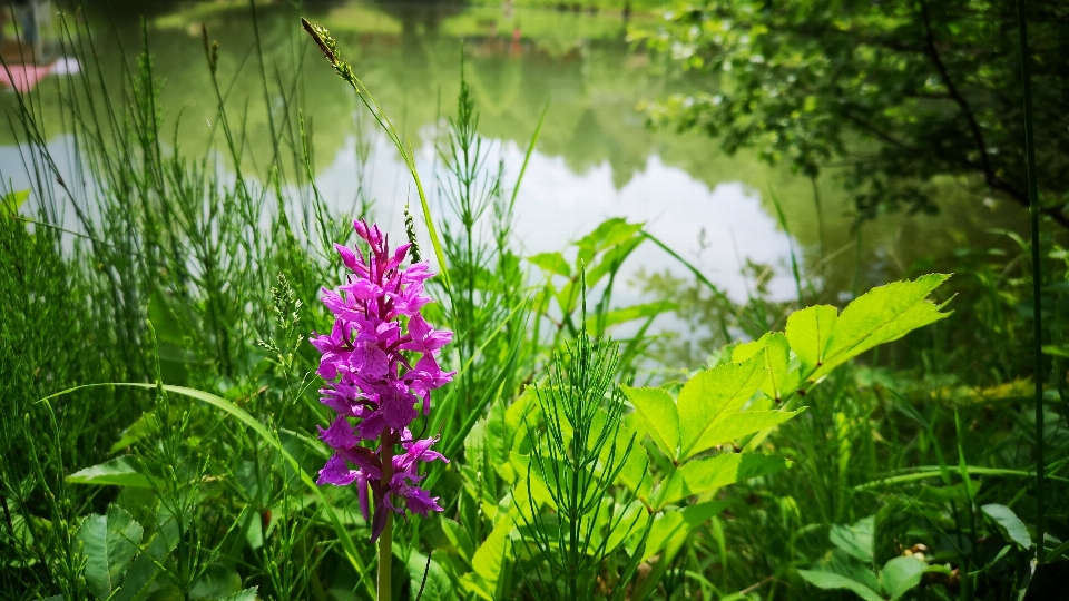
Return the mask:
[(725, 453), (692, 461), (675, 469), (661, 482), (656, 493), (657, 506), (790, 466), (791, 462), (783, 457), (751, 453)]

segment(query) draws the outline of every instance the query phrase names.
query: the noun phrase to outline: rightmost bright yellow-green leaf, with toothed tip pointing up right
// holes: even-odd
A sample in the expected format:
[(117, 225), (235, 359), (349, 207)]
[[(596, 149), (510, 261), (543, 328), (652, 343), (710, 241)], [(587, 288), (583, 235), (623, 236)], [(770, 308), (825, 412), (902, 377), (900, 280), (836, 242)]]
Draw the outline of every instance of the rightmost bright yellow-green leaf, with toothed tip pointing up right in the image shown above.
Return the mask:
[[(815, 381), (837, 365), (938, 322), (949, 313), (928, 300), (928, 295), (950, 276), (930, 274), (912, 282), (895, 282), (873, 288), (846, 305), (832, 329), (823, 364), (810, 376)], [(790, 321), (787, 323), (790, 327)]]

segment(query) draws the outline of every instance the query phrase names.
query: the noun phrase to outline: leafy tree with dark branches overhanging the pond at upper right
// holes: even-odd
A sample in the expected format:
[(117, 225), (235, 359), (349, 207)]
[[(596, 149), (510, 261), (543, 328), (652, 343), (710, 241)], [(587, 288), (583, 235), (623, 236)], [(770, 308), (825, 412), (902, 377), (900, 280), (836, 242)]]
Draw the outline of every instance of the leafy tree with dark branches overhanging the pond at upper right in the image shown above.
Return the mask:
[[(1042, 211), (1069, 227), (1069, 3), (1028, 9)], [(846, 166), (863, 216), (935, 210), (938, 176), (1028, 205), (1013, 2), (706, 0), (635, 37), (714, 75), (650, 106), (655, 122), (814, 177)]]

